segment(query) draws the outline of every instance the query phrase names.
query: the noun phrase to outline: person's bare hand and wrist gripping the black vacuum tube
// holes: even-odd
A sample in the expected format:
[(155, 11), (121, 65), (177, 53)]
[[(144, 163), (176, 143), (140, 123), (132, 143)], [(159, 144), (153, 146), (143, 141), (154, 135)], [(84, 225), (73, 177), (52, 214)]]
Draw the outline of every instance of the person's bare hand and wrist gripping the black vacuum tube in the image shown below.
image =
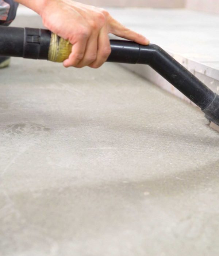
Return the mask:
[(39, 15), (53, 33), (68, 39), (72, 53), (65, 67), (99, 68), (111, 52), (108, 33), (147, 45), (149, 40), (127, 29), (104, 9), (72, 0), (16, 0)]

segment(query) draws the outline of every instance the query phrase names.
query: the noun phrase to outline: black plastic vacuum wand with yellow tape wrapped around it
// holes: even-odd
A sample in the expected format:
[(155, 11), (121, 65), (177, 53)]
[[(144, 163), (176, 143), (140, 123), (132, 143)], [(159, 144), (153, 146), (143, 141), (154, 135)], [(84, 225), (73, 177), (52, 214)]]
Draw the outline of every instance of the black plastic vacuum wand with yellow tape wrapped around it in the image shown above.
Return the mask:
[[(191, 72), (159, 46), (139, 45), (131, 41), (111, 40), (107, 61), (147, 64), (201, 108), (206, 117), (219, 125), (219, 95), (211, 91)], [(0, 26), (0, 55), (62, 62), (72, 45), (45, 29)]]

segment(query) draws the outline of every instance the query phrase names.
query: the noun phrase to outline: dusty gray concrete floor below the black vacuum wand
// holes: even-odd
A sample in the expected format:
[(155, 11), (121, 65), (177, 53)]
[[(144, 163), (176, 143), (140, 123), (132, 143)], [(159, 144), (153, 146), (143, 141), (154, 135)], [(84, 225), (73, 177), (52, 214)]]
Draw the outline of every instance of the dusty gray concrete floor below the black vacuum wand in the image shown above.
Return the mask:
[(0, 70), (1, 256), (217, 256), (219, 134), (116, 64)]

